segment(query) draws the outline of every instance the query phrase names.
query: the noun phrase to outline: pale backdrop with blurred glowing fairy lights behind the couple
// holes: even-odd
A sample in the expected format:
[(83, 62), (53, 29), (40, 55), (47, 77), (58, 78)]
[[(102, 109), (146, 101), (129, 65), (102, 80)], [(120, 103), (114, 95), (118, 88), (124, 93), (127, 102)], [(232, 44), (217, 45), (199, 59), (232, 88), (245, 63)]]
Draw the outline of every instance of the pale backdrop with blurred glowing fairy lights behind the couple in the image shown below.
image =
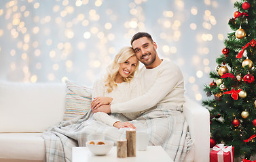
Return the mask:
[[(149, 32), (158, 54), (185, 77), (198, 102), (230, 32), (234, 0), (3, 0), (0, 2), (0, 80), (92, 86), (121, 47)], [(158, 6), (158, 7), (156, 7)]]

